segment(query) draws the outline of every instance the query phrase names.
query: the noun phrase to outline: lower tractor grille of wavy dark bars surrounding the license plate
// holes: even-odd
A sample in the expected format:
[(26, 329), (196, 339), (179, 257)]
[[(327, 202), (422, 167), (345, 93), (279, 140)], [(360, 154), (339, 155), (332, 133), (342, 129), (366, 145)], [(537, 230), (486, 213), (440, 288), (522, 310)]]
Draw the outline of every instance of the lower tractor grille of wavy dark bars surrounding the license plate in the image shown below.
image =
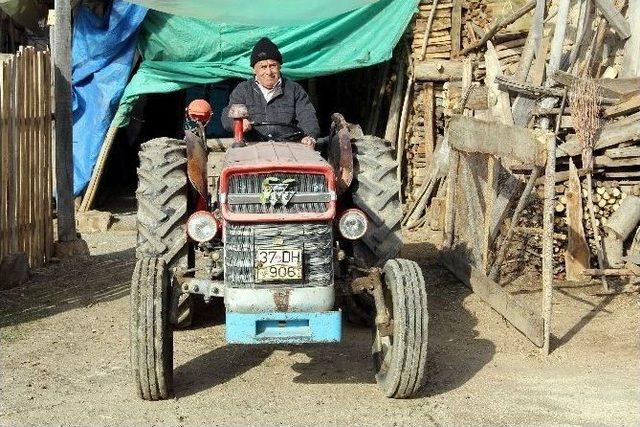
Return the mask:
[[(227, 223), (225, 232), (224, 280), (228, 287), (306, 287), (333, 284), (331, 223)], [(256, 282), (256, 250), (277, 247), (302, 249), (302, 281)]]

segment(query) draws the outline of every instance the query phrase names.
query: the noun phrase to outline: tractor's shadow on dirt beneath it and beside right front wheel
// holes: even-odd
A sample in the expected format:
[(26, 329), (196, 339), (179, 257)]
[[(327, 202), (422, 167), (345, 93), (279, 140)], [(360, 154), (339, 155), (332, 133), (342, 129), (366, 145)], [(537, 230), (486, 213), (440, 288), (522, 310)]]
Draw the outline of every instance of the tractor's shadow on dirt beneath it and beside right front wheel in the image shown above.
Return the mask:
[[(421, 265), (427, 283), (430, 315), (427, 385), (419, 396), (434, 396), (471, 379), (491, 361), (495, 345), (477, 337), (474, 330), (477, 320), (463, 305), (470, 291), (437, 264), (433, 245), (407, 244), (403, 256)], [(222, 320), (220, 315), (210, 315), (200, 318), (198, 323), (201, 322), (214, 325)], [(176, 368), (176, 395), (193, 395), (230, 381), (262, 364), (277, 350), (308, 357), (308, 362), (292, 364), (298, 374), (294, 383), (373, 383), (370, 346), (369, 329), (345, 323), (339, 344), (218, 347)]]

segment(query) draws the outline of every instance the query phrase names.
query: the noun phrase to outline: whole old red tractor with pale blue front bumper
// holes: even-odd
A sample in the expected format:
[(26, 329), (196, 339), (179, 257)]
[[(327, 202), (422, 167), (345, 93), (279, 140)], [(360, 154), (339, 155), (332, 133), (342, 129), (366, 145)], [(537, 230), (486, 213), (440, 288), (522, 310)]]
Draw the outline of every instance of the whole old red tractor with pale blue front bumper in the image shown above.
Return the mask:
[[(332, 116), (316, 150), (299, 129), (207, 141), (211, 109), (187, 109), (183, 141), (142, 145), (137, 264), (131, 281), (131, 363), (140, 396), (172, 394), (173, 329), (196, 296), (223, 298), (228, 343), (338, 342), (342, 308), (370, 323), (376, 380), (388, 397), (424, 384), (427, 295), (402, 246), (397, 164), (389, 144)], [(341, 304), (338, 304), (340, 302)], [(205, 373), (203, 373), (205, 374)]]

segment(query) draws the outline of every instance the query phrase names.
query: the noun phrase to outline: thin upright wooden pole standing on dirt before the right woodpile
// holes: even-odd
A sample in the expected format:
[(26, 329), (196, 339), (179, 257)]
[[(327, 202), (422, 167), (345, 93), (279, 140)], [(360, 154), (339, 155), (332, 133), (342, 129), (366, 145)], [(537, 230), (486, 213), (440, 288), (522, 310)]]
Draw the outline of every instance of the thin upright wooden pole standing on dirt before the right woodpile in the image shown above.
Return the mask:
[(553, 217), (556, 174), (555, 135), (547, 138), (547, 165), (544, 175), (544, 207), (542, 213), (542, 317), (544, 319), (543, 351), (549, 354), (551, 310), (553, 303)]

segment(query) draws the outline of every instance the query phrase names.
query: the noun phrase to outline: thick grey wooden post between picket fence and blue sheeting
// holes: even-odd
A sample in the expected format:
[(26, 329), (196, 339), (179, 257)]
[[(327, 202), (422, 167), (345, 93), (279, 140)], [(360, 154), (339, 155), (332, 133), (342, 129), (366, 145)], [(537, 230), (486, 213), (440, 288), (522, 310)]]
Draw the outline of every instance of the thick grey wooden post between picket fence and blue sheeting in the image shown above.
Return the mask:
[(73, 204), (70, 0), (56, 0), (55, 15), (53, 63), (55, 67), (58, 240), (69, 242), (76, 239)]

